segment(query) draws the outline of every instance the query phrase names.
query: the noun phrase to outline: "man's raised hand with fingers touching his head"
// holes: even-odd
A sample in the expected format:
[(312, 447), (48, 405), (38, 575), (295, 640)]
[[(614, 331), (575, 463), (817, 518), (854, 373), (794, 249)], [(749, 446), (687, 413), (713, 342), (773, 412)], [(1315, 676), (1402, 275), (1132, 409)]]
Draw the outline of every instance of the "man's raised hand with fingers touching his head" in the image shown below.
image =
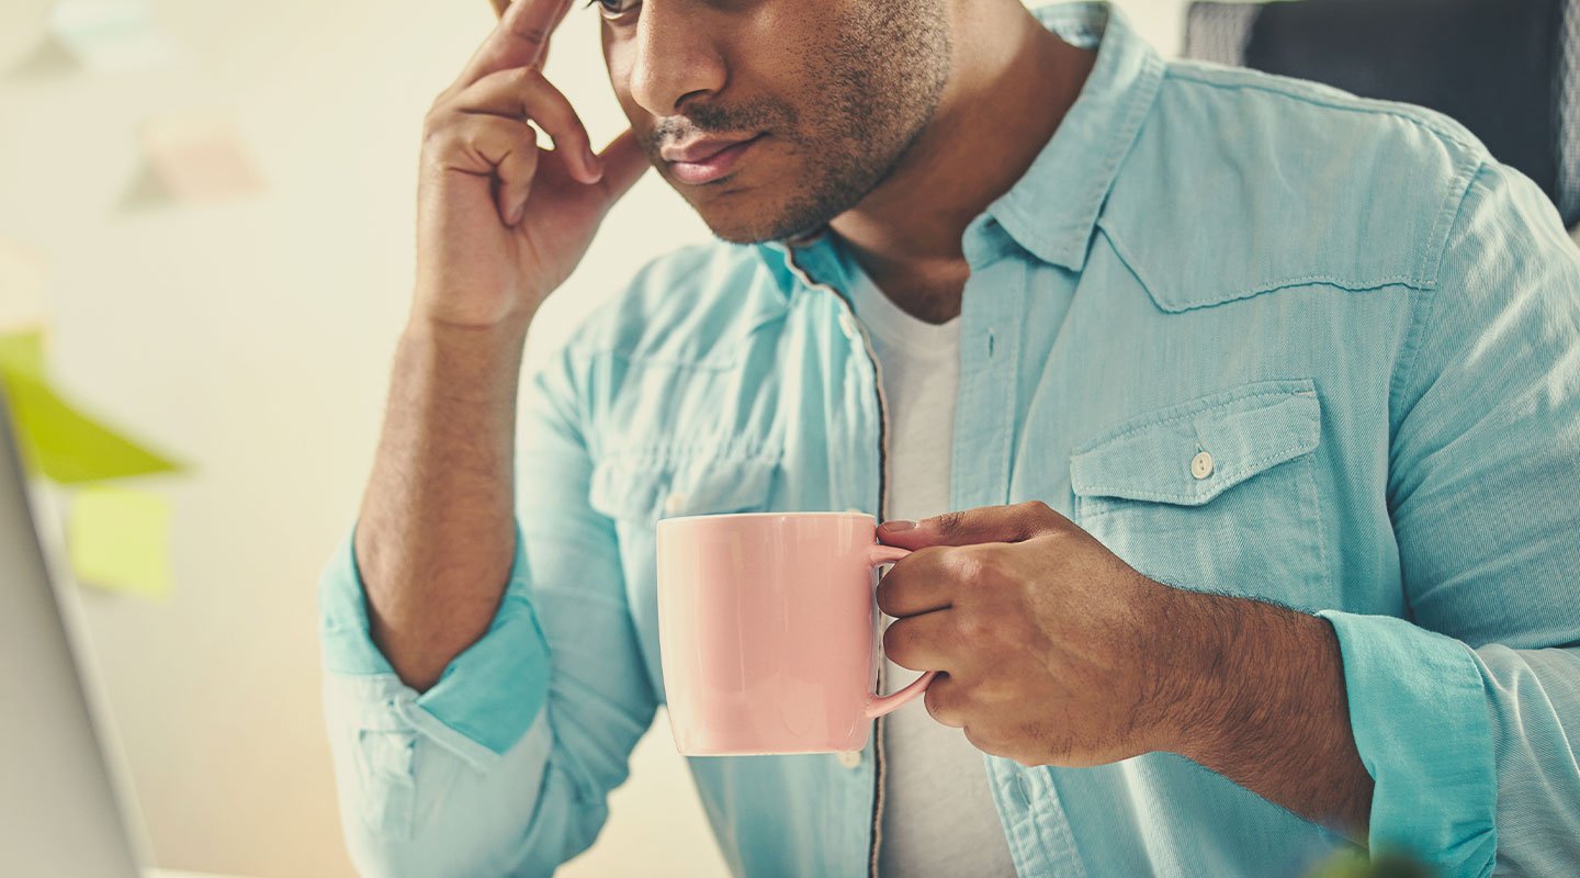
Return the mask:
[[(572, 0), (515, 0), (423, 120), (412, 317), (483, 328), (529, 321), (649, 167), (630, 128), (596, 158), (542, 73)], [(555, 141), (537, 145), (531, 120)]]

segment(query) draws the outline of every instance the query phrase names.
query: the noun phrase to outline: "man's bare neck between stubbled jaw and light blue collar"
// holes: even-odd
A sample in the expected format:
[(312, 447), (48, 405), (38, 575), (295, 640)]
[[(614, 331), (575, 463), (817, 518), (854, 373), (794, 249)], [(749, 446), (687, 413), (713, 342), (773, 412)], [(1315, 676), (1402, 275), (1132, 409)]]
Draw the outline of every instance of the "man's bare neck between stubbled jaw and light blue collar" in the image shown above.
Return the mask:
[(965, 226), (1025, 174), (1097, 58), (1021, 3), (973, 6), (988, 9), (954, 22), (954, 79), (904, 163), (830, 223), (885, 295), (932, 324), (961, 313)]

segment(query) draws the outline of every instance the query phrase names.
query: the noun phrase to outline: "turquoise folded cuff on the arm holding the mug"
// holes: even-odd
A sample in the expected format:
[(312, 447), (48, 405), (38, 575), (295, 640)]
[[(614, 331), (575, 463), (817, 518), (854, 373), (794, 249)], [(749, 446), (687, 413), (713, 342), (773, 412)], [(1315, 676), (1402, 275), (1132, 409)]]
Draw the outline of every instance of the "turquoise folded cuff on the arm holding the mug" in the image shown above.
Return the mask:
[(1349, 728), (1371, 774), (1370, 848), (1444, 875), (1490, 875), (1498, 771), (1471, 647), (1392, 616), (1324, 610), (1338, 635)]

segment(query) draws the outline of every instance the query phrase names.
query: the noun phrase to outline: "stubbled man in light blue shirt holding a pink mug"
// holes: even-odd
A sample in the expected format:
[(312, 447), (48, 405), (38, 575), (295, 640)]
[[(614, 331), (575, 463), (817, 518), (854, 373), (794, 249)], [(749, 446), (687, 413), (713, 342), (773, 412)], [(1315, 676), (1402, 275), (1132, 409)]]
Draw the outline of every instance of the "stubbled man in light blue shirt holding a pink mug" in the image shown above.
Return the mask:
[[(1580, 253), (1534, 183), (1104, 3), (597, 2), (602, 153), (555, 0), (428, 118), (319, 592), (362, 870), (585, 850), (664, 701), (654, 523), (845, 508), (920, 520), (878, 676), (942, 673), (864, 752), (690, 760), (736, 873), (1580, 869)], [(517, 442), (531, 314), (649, 164), (720, 240), (641, 265)]]

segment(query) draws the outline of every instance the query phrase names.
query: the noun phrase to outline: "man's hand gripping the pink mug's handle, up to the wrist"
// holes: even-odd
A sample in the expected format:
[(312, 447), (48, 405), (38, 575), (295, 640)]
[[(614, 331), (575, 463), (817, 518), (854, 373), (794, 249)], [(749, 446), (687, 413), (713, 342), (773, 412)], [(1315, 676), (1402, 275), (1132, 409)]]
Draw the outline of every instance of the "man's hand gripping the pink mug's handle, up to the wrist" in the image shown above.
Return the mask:
[(943, 671), (927, 712), (984, 753), (1095, 766), (1166, 749), (1183, 674), (1171, 592), (1040, 501), (878, 531), (883, 651)]

